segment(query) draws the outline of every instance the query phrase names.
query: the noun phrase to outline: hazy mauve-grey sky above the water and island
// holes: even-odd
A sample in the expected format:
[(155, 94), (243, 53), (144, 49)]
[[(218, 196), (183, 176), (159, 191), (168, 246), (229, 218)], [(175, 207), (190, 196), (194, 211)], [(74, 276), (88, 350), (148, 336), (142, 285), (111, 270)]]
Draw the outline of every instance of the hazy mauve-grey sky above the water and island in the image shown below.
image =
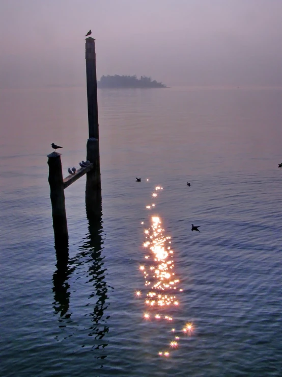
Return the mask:
[(169, 86), (282, 86), (282, 0), (1, 0), (0, 88), (84, 85), (97, 74)]

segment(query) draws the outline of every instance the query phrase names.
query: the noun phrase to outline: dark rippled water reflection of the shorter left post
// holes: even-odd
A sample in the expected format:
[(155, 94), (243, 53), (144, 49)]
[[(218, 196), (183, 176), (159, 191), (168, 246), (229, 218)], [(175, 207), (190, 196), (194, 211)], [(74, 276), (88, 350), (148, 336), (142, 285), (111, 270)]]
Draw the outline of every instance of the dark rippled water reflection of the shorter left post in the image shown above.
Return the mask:
[(67, 314), (70, 303), (69, 284), (67, 283), (68, 276), (72, 272), (68, 269), (69, 262), (69, 248), (68, 244), (62, 245), (60, 242), (55, 243), (57, 270), (53, 274), (53, 292), (54, 292), (54, 310), (55, 313), (60, 313), (61, 317), (69, 318)]

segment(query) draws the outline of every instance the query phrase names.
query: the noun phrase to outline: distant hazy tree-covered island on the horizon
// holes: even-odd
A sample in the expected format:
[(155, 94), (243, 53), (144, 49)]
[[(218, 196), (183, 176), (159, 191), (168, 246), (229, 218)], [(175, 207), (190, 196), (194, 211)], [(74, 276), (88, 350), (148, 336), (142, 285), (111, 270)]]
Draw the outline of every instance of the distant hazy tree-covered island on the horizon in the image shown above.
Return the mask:
[(150, 77), (141, 76), (102, 76), (97, 82), (98, 88), (167, 88), (166, 85), (152, 80)]

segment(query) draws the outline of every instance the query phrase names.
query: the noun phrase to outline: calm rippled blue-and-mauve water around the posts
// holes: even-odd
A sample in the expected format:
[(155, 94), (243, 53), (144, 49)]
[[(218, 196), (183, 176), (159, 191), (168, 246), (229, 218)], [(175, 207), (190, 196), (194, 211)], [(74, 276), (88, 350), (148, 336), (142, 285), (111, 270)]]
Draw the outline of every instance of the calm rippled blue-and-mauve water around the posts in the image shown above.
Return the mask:
[(1, 92), (0, 374), (281, 376), (282, 90), (98, 94), (102, 214), (66, 189), (57, 263), (46, 155), (85, 159), (86, 90)]

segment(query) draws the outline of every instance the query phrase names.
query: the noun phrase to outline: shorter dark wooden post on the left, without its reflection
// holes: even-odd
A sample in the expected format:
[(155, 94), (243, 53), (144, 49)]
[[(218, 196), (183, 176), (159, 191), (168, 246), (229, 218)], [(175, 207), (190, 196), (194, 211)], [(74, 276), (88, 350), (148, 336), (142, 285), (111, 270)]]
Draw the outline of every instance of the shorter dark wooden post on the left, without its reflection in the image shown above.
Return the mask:
[(61, 154), (53, 152), (48, 157), (49, 185), (52, 205), (55, 245), (68, 245), (68, 224), (65, 207), (65, 193)]

